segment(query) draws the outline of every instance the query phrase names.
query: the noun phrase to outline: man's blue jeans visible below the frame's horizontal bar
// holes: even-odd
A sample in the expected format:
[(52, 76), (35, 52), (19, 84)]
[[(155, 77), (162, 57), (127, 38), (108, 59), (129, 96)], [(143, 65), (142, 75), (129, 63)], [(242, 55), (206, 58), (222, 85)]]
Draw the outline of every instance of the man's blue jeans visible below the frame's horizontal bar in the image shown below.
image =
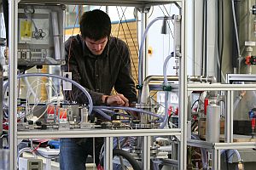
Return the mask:
[[(95, 139), (95, 162), (99, 164), (99, 155), (102, 149), (103, 140)], [(93, 156), (93, 141), (86, 139), (77, 142), (75, 139), (60, 139), (60, 167), (61, 170), (84, 170), (87, 156)]]

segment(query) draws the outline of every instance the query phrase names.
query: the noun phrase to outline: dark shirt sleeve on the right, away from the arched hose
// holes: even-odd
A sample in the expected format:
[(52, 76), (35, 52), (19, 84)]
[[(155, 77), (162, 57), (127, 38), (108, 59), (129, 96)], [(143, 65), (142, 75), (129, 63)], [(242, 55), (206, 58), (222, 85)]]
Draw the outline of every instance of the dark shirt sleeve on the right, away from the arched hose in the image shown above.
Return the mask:
[(137, 91), (131, 75), (131, 54), (125, 42), (120, 43), (120, 69), (117, 81), (114, 84), (115, 90), (119, 94), (124, 94), (129, 102), (137, 102)]

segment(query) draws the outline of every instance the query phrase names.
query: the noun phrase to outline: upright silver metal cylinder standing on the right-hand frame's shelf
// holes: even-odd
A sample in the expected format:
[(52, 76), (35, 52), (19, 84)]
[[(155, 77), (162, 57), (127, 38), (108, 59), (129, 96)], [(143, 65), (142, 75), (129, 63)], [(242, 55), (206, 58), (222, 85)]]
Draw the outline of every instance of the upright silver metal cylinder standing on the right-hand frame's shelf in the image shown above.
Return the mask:
[(207, 106), (207, 142), (219, 142), (220, 106), (216, 104)]

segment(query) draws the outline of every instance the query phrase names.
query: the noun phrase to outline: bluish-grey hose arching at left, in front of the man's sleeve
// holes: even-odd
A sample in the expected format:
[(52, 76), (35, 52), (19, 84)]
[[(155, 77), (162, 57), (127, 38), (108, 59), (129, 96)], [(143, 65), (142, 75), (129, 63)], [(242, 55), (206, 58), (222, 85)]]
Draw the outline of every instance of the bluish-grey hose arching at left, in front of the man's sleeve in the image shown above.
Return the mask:
[[(71, 82), (73, 85), (75, 85), (77, 88), (79, 88), (87, 97), (88, 101), (89, 101), (89, 115), (91, 114), (92, 108), (93, 108), (93, 103), (92, 103), (92, 99), (90, 97), (90, 94), (86, 91), (86, 89), (81, 86), (78, 82), (75, 82), (67, 77), (61, 77), (59, 75), (53, 75), (53, 74), (47, 74), (47, 73), (26, 73), (26, 74), (21, 74), (18, 75), (17, 78), (22, 78), (22, 77), (53, 77), (53, 78), (58, 78), (61, 80), (64, 80), (66, 82)], [(4, 82), (3, 83), (3, 95), (5, 94), (6, 88), (9, 85), (9, 82)]]

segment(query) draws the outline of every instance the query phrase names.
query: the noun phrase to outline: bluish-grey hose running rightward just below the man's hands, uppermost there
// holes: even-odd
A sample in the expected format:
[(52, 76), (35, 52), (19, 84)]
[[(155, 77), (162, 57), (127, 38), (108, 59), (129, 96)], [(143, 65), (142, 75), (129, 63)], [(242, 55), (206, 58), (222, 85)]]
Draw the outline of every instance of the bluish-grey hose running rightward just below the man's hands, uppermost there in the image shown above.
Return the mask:
[(137, 108), (133, 108), (133, 107), (120, 107), (120, 106), (105, 106), (105, 105), (101, 105), (101, 106), (94, 106), (94, 109), (119, 109), (119, 110), (125, 110), (125, 111), (136, 111), (136, 112), (141, 112), (144, 114), (148, 114), (150, 116), (155, 116), (157, 118), (160, 119), (160, 122), (164, 122), (164, 119), (162, 116), (160, 115), (156, 115), (150, 111), (144, 111), (144, 110), (140, 110)]

